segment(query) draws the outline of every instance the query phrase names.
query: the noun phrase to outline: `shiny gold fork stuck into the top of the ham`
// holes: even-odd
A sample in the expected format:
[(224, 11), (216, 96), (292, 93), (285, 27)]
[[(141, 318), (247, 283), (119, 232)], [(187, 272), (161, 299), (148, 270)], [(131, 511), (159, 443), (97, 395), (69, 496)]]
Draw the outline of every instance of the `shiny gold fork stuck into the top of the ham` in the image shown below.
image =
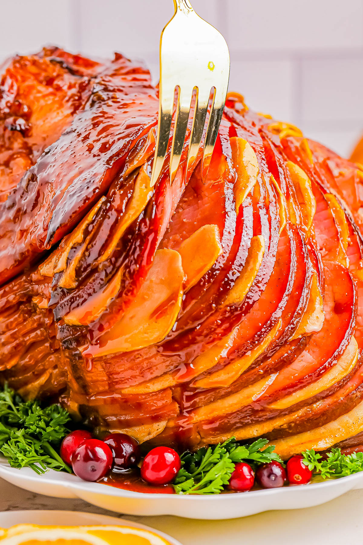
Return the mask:
[(179, 166), (193, 89), (196, 89), (187, 165), (196, 158), (204, 134), (211, 92), (210, 115), (202, 159), (204, 175), (210, 164), (226, 100), (230, 56), (225, 39), (195, 13), (189, 0), (174, 0), (175, 14), (160, 39), (159, 118), (151, 186), (164, 164), (173, 116), (175, 88), (178, 98), (170, 154), (170, 178)]

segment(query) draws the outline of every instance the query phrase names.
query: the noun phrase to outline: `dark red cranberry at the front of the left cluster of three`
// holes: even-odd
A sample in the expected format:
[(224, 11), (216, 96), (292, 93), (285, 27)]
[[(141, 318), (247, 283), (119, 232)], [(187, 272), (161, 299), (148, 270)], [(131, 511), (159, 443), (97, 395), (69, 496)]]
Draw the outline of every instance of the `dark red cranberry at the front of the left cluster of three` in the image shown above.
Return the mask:
[(99, 439), (88, 439), (73, 453), (72, 469), (84, 481), (97, 481), (112, 468), (112, 452)]

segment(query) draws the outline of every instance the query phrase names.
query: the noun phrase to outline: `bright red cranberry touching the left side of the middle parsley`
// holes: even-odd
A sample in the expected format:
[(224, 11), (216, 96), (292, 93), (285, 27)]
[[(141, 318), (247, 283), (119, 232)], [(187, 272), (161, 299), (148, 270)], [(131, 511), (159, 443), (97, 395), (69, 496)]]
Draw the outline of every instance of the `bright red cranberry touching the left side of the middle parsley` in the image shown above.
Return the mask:
[(141, 477), (153, 485), (166, 485), (173, 481), (180, 470), (180, 457), (167, 446), (157, 446), (144, 458), (141, 465)]

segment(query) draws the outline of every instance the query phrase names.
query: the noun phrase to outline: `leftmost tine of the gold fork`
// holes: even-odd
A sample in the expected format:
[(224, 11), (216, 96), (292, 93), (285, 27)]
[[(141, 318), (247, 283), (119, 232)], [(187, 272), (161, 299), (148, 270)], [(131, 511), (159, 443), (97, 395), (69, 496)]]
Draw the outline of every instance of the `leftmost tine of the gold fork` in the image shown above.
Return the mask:
[[(167, 95), (165, 97), (165, 94)], [(155, 143), (155, 155), (151, 171), (150, 186), (153, 187), (161, 173), (163, 168), (165, 155), (168, 150), (171, 119), (173, 117), (174, 106), (174, 94), (170, 95), (168, 101), (168, 93), (163, 94), (162, 86), (160, 86), (160, 99), (159, 99), (159, 116), (158, 116), (158, 129)]]

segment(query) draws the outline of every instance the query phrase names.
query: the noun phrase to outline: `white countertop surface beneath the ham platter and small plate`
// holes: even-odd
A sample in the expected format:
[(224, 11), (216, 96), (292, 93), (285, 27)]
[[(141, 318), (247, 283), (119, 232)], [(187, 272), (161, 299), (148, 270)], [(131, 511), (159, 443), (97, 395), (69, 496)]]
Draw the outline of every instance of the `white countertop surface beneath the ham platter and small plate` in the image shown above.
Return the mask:
[[(49, 498), (0, 479), (0, 511), (52, 509), (119, 516), (80, 499)], [(233, 520), (123, 516), (162, 530), (183, 545), (361, 545), (363, 489), (351, 490), (327, 504), (291, 511), (268, 511)]]

